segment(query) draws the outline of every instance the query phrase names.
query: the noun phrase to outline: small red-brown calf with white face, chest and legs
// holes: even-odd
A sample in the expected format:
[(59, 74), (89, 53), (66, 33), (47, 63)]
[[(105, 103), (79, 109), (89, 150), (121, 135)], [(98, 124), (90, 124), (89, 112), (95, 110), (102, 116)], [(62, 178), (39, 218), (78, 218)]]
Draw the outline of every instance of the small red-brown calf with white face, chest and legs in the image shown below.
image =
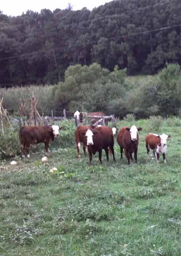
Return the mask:
[(150, 153), (150, 148), (153, 150), (153, 155), (156, 158), (156, 161), (158, 163), (160, 153), (163, 154), (163, 159), (164, 163), (166, 164), (166, 159), (165, 159), (165, 154), (167, 151), (167, 140), (171, 137), (171, 135), (157, 135), (155, 133), (148, 133), (146, 138), (145, 138), (145, 146), (147, 149), (147, 156), (149, 160), (149, 153)]

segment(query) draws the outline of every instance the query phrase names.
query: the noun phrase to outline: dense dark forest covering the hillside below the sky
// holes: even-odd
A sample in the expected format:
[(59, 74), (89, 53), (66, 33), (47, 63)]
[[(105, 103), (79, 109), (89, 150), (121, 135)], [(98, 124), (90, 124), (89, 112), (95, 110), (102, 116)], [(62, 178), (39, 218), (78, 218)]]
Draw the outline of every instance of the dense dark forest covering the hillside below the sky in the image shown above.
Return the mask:
[(118, 0), (92, 11), (0, 12), (0, 87), (55, 84), (75, 64), (148, 74), (180, 63), (180, 9), (180, 0)]

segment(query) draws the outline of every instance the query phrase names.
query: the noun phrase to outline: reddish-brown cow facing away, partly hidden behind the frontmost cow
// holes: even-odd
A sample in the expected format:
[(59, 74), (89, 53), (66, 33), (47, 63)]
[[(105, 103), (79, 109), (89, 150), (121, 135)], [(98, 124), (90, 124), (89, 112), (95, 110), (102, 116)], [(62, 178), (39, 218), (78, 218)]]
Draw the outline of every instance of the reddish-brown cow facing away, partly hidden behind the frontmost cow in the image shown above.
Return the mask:
[(83, 150), (84, 150), (84, 155), (86, 155), (86, 150), (87, 150), (87, 141), (84, 138), (84, 133), (87, 132), (88, 129), (95, 128), (93, 125), (79, 125), (75, 129), (75, 143), (77, 147), (77, 153), (78, 157), (80, 157), (80, 143), (83, 143)]

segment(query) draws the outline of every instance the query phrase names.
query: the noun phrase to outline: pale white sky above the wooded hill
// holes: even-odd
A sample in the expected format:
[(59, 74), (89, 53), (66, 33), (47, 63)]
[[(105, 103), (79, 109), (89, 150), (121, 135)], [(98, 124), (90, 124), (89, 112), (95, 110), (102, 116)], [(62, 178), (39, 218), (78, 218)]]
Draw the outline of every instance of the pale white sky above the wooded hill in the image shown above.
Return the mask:
[(111, 0), (1, 0), (0, 11), (8, 16), (18, 16), (22, 12), (32, 10), (34, 12), (40, 12), (41, 9), (50, 9), (54, 11), (56, 8), (66, 9), (68, 3), (73, 5), (73, 10), (81, 10), (83, 7), (87, 7), (90, 11), (94, 7), (98, 7)]

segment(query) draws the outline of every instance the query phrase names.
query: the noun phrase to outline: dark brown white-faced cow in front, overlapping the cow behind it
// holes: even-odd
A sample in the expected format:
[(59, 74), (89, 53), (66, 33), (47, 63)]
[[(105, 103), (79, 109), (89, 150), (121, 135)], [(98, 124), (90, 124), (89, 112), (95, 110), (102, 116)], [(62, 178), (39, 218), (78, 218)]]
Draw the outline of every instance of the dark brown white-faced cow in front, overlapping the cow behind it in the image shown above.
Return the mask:
[(109, 148), (114, 156), (114, 136), (110, 127), (101, 126), (94, 129), (87, 129), (87, 132), (82, 133), (84, 141), (87, 143), (89, 153), (89, 166), (92, 165), (92, 154), (99, 153), (99, 160), (102, 164), (102, 149), (106, 152), (106, 159), (109, 161)]

